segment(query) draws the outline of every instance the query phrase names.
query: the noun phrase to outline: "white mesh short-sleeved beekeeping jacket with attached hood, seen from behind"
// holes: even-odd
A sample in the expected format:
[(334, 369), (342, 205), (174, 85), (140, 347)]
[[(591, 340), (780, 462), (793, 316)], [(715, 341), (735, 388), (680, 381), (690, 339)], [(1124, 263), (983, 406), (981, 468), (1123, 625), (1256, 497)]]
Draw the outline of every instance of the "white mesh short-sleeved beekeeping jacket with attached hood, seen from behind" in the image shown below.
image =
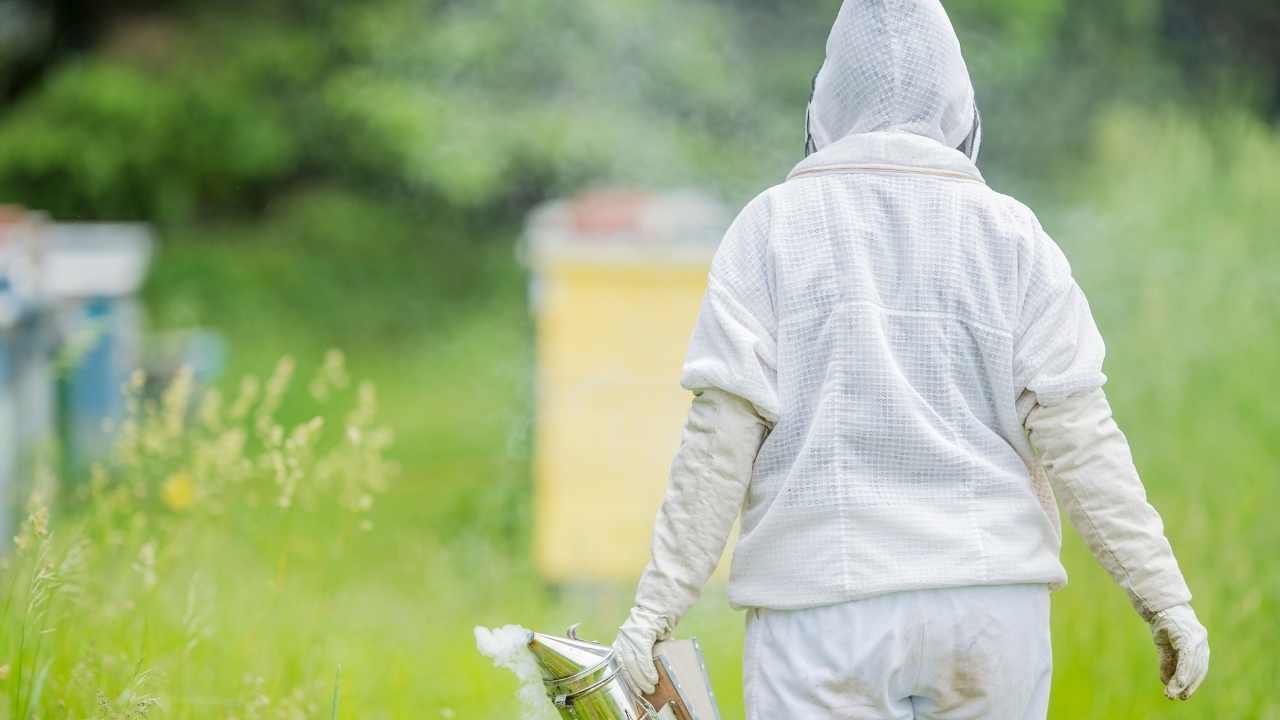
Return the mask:
[(956, 150), (975, 118), (938, 3), (845, 3), (817, 151), (730, 228), (682, 378), (776, 421), (736, 606), (1065, 582), (1016, 400), (1102, 386), (1103, 343), (1036, 215)]

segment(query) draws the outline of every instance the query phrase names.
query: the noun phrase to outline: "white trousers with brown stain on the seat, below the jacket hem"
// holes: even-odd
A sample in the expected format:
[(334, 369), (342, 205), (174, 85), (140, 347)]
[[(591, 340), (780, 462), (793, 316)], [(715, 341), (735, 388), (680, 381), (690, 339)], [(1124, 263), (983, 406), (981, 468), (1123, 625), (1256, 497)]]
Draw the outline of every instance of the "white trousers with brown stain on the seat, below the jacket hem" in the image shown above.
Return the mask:
[(748, 720), (1044, 720), (1048, 588), (883, 594), (750, 610)]

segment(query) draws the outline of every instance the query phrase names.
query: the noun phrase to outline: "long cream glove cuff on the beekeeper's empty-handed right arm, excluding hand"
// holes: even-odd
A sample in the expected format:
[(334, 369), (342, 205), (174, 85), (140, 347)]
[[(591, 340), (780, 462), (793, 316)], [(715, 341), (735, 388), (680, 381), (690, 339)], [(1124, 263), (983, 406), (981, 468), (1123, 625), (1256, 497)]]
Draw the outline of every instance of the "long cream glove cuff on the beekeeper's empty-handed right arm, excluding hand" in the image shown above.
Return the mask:
[(1093, 556), (1148, 621), (1190, 602), (1174, 551), (1101, 388), (1030, 405), (1037, 461)]

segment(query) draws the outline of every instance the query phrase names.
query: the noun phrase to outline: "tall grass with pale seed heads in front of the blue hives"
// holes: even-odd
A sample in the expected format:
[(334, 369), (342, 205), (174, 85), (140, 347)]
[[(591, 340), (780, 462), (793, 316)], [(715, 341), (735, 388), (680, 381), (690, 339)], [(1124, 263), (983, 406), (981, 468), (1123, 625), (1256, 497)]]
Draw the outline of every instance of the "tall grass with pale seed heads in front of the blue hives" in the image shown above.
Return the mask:
[(111, 461), (81, 486), (40, 483), (0, 575), (4, 716), (310, 717), (320, 689), (337, 702), (337, 659), (274, 648), (308, 615), (301, 598), (340, 583), (397, 469), (374, 388), (342, 355), (306, 387), (323, 414), (285, 424), (293, 372), (284, 359), (229, 398), (197, 397), (188, 372), (147, 398), (136, 375)]

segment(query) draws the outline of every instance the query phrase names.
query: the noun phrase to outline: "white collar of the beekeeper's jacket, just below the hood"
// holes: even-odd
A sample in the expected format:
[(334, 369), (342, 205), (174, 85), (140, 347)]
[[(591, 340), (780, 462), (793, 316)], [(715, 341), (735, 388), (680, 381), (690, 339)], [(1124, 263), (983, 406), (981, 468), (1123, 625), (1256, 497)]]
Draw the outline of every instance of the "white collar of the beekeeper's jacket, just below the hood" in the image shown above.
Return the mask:
[(809, 155), (787, 179), (847, 172), (897, 172), (986, 181), (978, 167), (959, 150), (908, 132), (850, 135)]

